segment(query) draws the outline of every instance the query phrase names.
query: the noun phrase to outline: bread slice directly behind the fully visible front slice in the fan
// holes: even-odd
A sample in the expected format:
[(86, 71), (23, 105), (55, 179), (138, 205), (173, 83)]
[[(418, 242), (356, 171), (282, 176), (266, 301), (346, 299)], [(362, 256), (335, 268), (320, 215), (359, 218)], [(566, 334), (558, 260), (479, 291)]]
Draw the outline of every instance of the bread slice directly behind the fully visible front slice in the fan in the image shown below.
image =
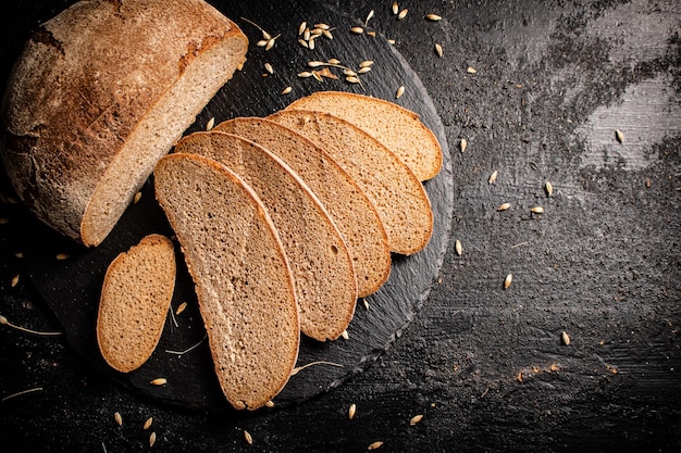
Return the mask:
[(232, 134), (195, 133), (175, 152), (213, 159), (253, 189), (288, 257), (300, 329), (319, 341), (338, 338), (355, 313), (355, 270), (340, 232), (305, 183), (281, 159)]

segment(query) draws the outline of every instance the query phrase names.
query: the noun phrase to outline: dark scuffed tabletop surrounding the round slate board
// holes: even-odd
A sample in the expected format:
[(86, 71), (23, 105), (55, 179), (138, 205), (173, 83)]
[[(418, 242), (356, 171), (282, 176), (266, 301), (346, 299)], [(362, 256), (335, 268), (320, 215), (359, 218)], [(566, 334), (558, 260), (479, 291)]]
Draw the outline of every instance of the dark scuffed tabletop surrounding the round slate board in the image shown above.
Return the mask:
[[(69, 2), (14, 3), (1, 7), (3, 29), (25, 39)], [(375, 11), (370, 23), (421, 77), (453, 155), (449, 250), (409, 328), (337, 389), (216, 415), (138, 397), (65, 341), (0, 326), (0, 397), (42, 388), (0, 402), (0, 449), (147, 451), (151, 416), (159, 451), (678, 451), (679, 3), (429, 0), (400, 2), (403, 21), (392, 2), (330, 4), (361, 22)], [(2, 192), (0, 314), (59, 329), (21, 278), (21, 206)], [(511, 209), (496, 212), (503, 202)]]

